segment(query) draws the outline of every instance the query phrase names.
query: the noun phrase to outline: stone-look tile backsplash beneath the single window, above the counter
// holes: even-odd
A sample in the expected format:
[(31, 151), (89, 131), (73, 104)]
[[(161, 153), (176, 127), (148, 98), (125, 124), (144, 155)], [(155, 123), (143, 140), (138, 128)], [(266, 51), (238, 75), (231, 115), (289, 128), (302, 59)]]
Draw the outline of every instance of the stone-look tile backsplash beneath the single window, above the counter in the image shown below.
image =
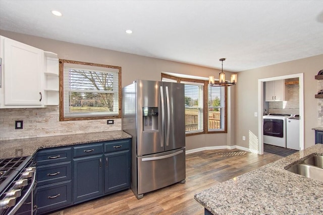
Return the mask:
[[(23, 129), (15, 121), (23, 120)], [(59, 120), (59, 107), (0, 109), (0, 140), (121, 130), (121, 119), (106, 124), (106, 119)]]

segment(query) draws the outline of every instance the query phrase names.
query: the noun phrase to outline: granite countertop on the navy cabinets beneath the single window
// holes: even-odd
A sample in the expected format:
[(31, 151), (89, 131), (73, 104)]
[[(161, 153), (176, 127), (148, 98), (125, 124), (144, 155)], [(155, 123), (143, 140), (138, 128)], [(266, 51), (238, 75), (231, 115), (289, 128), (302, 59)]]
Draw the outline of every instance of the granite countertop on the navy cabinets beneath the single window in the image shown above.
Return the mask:
[(13, 158), (30, 156), (43, 148), (61, 147), (68, 145), (88, 144), (116, 139), (131, 138), (131, 135), (122, 131), (105, 131), (82, 134), (69, 134), (26, 139), (13, 139), (0, 141), (0, 158)]

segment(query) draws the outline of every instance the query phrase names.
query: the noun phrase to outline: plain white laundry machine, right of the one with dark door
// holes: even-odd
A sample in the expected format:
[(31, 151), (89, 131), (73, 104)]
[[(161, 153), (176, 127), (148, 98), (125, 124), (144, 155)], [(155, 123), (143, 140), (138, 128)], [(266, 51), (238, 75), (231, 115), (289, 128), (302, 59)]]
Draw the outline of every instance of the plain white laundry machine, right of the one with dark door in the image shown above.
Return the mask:
[(287, 148), (299, 151), (299, 115), (289, 117), (286, 125)]

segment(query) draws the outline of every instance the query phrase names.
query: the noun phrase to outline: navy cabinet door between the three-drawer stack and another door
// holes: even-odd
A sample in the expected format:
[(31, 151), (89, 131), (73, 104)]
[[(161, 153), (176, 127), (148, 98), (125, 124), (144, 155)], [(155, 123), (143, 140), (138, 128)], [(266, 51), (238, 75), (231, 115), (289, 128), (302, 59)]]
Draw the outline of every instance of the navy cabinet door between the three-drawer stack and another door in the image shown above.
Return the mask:
[(103, 194), (103, 155), (73, 159), (74, 203)]

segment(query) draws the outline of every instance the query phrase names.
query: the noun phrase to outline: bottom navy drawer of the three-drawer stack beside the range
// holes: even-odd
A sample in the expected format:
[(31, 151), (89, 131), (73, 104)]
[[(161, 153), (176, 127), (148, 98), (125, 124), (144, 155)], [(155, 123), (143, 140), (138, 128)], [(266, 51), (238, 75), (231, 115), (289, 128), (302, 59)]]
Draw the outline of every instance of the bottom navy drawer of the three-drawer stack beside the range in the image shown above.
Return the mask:
[(37, 188), (37, 213), (44, 213), (71, 205), (71, 181)]

